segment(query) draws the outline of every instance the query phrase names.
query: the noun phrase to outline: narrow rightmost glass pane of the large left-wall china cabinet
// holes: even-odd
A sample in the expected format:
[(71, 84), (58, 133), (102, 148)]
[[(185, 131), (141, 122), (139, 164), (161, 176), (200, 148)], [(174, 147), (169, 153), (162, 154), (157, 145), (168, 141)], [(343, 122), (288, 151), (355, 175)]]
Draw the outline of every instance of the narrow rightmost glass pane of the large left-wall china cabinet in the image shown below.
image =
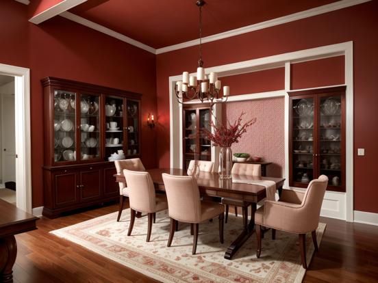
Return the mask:
[(127, 155), (139, 154), (139, 104), (127, 100)]

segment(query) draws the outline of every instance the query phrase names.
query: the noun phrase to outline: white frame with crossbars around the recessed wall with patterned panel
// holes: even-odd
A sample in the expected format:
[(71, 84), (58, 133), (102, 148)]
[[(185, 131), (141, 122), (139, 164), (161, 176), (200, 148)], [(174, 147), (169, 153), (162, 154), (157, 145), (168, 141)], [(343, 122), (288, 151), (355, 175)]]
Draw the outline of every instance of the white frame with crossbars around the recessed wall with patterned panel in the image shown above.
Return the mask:
[[(205, 72), (218, 72), (218, 77), (239, 75), (257, 70), (271, 68), (285, 68), (285, 90), (276, 92), (264, 92), (242, 96), (230, 96), (231, 100), (247, 100), (253, 98), (285, 97), (285, 187), (288, 187), (288, 94), (290, 90), (290, 64), (306, 62), (314, 59), (323, 59), (344, 55), (344, 79), (346, 85), (346, 193), (342, 193), (345, 200), (342, 219), (353, 222), (353, 42), (343, 42), (320, 46), (313, 49), (305, 49), (290, 53), (283, 53), (269, 57), (252, 59), (244, 62), (236, 62), (227, 65), (205, 68)], [(191, 75), (195, 75), (194, 73)], [(170, 110), (170, 161), (171, 167), (182, 165), (182, 117), (174, 90), (176, 81), (181, 80), (181, 75), (169, 77), (169, 110)], [(241, 99), (240, 99), (241, 98)]]

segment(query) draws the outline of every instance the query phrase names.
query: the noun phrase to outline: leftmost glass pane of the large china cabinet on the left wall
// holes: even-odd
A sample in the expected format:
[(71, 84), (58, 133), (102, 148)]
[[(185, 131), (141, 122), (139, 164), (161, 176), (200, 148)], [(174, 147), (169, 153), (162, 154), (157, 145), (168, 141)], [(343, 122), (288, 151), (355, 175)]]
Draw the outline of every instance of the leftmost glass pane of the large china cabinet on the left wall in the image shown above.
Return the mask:
[(76, 94), (64, 90), (54, 92), (54, 161), (76, 160)]

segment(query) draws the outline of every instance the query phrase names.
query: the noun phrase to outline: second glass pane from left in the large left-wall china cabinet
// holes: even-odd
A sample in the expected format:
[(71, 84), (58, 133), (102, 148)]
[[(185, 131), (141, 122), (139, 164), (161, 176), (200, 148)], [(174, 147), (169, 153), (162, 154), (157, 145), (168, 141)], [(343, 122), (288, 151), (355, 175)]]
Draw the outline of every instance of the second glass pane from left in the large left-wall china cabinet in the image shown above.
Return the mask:
[(98, 159), (100, 156), (100, 97), (91, 94), (81, 94), (80, 97), (80, 159)]

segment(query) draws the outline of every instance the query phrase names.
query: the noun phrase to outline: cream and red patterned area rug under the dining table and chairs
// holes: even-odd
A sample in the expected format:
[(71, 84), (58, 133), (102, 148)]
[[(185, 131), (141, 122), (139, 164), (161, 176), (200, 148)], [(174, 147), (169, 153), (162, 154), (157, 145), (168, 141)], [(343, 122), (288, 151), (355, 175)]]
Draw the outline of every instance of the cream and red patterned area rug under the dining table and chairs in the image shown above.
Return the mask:
[[(189, 224), (180, 223), (171, 247), (166, 247), (170, 226), (166, 211), (156, 215), (149, 243), (147, 217), (136, 219), (127, 237), (129, 213), (129, 209), (123, 211), (120, 222), (116, 221), (117, 213), (111, 213), (51, 233), (161, 282), (301, 282), (305, 275), (295, 234), (277, 231), (272, 240), (271, 232), (267, 232), (260, 258), (256, 258), (253, 234), (233, 260), (226, 260), (225, 251), (242, 227), (242, 218), (231, 214), (223, 244), (219, 242), (218, 219), (199, 225), (197, 254), (193, 256)], [(320, 223), (316, 230), (318, 244), (324, 231), (325, 224)], [(314, 254), (311, 233), (306, 242), (309, 264)]]

